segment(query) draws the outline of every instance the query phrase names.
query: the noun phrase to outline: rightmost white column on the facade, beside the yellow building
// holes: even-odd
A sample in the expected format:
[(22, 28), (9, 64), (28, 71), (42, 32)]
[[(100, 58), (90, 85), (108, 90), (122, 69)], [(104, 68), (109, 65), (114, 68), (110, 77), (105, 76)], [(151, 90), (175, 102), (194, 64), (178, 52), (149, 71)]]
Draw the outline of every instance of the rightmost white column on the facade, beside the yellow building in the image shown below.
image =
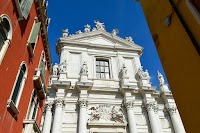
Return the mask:
[(185, 133), (185, 129), (176, 113), (176, 107), (169, 107), (168, 111), (172, 120), (175, 133)]

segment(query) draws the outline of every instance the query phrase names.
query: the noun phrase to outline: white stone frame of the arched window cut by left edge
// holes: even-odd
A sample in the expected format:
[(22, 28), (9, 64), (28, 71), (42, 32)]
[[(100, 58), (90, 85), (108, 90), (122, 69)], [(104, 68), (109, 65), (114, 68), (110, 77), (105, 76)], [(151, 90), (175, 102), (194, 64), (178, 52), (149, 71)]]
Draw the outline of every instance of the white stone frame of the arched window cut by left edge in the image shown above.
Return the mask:
[(9, 30), (8, 35), (7, 35), (7, 40), (4, 41), (4, 44), (3, 44), (2, 48), (0, 49), (0, 64), (2, 63), (3, 58), (6, 54), (6, 51), (8, 50), (8, 47), (10, 46), (10, 43), (11, 43), (11, 40), (12, 40), (12, 34), (13, 34), (11, 19), (9, 18), (8, 15), (2, 14), (0, 16), (0, 21), (2, 21), (3, 19), (6, 19), (8, 21), (9, 26), (10, 26), (10, 30)]

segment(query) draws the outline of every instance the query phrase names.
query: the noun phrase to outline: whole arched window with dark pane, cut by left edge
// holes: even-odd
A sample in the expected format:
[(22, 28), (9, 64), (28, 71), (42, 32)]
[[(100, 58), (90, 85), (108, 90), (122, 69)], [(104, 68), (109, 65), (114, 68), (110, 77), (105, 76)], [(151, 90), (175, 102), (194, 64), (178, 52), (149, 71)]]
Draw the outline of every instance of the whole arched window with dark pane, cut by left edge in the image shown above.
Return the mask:
[(3, 14), (0, 16), (0, 63), (10, 45), (12, 38), (12, 25), (10, 18)]

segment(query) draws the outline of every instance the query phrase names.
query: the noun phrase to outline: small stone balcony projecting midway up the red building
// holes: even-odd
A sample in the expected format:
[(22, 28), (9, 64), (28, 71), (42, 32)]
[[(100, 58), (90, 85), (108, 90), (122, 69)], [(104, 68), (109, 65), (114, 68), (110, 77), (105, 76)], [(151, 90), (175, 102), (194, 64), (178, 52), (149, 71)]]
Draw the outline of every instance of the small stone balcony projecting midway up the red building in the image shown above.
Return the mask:
[(46, 84), (43, 72), (41, 69), (35, 69), (35, 75), (33, 76), (33, 83), (41, 100), (46, 97)]

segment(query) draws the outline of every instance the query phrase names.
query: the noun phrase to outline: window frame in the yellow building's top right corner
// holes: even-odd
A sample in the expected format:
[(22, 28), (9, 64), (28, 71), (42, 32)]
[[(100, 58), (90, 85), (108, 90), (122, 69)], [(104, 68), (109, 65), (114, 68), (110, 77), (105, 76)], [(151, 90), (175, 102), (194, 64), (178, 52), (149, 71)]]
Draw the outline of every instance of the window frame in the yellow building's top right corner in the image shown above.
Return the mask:
[(196, 9), (191, 0), (186, 0), (185, 2), (198, 24), (200, 24), (200, 12)]

